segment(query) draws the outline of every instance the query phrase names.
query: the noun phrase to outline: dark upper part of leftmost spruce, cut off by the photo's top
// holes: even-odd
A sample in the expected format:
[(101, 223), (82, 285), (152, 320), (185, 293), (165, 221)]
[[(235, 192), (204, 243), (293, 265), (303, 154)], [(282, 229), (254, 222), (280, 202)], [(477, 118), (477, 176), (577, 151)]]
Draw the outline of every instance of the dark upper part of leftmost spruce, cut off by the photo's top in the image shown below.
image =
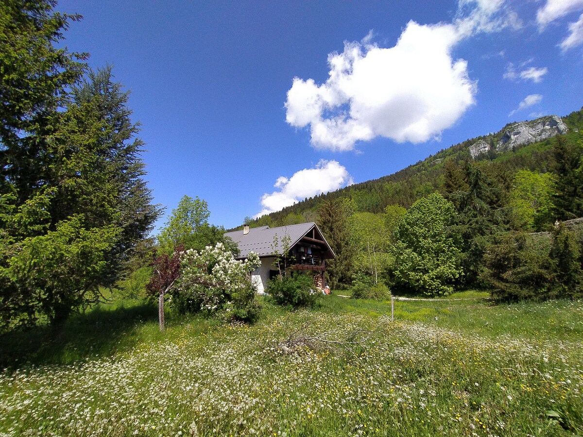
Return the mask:
[(34, 195), (42, 179), (47, 138), (58, 130), (57, 110), (68, 102), (85, 55), (56, 48), (79, 16), (52, 11), (56, 2), (0, 2), (0, 168), (2, 193), (17, 205)]

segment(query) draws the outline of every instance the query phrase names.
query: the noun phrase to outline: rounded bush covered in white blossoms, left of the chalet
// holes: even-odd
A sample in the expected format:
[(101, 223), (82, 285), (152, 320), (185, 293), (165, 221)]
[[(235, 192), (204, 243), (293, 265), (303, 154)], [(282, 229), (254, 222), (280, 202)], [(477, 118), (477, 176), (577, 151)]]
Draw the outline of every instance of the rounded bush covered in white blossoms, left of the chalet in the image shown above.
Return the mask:
[(226, 311), (230, 316), (251, 320), (257, 316), (251, 272), (259, 266), (259, 255), (251, 252), (237, 260), (222, 243), (197, 252), (189, 249), (180, 265), (173, 294), (180, 311)]

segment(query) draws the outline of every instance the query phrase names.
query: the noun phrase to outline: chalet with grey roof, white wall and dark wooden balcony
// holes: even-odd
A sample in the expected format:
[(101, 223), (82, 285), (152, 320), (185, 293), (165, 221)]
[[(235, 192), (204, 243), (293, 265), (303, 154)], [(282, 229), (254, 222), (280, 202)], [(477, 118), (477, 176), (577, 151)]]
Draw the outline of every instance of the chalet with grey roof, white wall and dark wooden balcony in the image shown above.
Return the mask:
[(289, 238), (287, 266), (292, 270), (313, 272), (314, 283), (319, 288), (325, 287), (326, 259), (336, 258), (324, 235), (313, 222), (279, 228), (263, 226), (250, 229), (245, 226), (243, 231), (227, 232), (225, 235), (239, 246), (241, 254), (238, 259), (247, 258), (249, 252), (259, 255), (261, 265), (251, 273), (251, 280), (259, 293), (264, 293), (267, 281), (279, 274), (274, 253), (283, 252), (283, 238)]

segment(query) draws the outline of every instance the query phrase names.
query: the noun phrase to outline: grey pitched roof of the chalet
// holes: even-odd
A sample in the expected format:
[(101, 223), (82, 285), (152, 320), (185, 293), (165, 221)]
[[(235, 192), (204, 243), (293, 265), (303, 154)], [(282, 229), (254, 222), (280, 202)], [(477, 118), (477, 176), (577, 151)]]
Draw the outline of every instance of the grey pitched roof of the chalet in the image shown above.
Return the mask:
[[(278, 228), (262, 226), (259, 228), (251, 228), (248, 234), (243, 234), (243, 231), (240, 230), (226, 232), (224, 235), (233, 239), (233, 241), (236, 242), (239, 246), (239, 251), (241, 252), (239, 258), (247, 258), (249, 252), (255, 252), (261, 257), (271, 256), (273, 254), (274, 248), (272, 246), (275, 234), (278, 234), (279, 239), (279, 244), (276, 246), (276, 248), (281, 251), (281, 240), (283, 237), (285, 237), (286, 234), (289, 235), (291, 239), (290, 247), (293, 247), (314, 227), (318, 230), (318, 233), (322, 235), (322, 232), (313, 221), (311, 223), (292, 224), (289, 226), (280, 226)], [(322, 238), (324, 239), (326, 246), (328, 246), (332, 256), (335, 256), (324, 235), (322, 235)]]

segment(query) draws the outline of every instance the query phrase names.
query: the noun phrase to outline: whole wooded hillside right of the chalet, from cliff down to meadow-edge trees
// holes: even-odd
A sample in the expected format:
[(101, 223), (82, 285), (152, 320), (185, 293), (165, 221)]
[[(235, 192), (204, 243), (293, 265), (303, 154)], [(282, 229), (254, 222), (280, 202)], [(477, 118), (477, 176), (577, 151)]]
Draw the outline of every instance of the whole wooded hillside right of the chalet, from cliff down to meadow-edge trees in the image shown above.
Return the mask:
[(315, 221), (336, 253), (331, 287), (500, 299), (580, 296), (583, 109), (512, 123), (395, 174), (250, 221)]

